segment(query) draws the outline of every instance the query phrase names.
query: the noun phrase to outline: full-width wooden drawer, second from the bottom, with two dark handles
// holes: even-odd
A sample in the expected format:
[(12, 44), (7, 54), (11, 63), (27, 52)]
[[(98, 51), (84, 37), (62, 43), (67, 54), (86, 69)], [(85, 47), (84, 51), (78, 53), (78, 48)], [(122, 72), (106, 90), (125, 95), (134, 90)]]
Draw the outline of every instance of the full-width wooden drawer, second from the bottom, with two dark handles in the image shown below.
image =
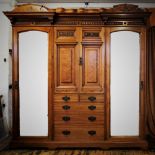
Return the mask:
[(73, 125), (73, 124), (85, 124), (85, 125), (104, 125), (104, 114), (89, 114), (79, 112), (79, 114), (62, 114), (55, 113), (54, 122), (56, 125)]

